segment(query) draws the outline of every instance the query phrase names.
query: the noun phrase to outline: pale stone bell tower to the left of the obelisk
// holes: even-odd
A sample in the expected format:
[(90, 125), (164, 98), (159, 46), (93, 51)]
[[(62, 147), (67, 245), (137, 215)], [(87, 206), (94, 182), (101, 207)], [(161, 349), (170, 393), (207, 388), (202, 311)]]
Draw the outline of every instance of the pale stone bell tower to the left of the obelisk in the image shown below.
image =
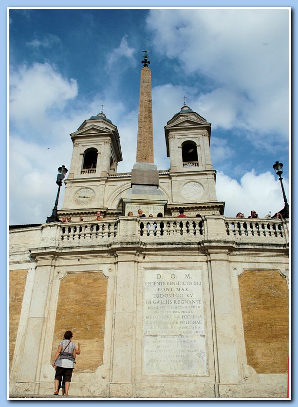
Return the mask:
[(101, 111), (85, 120), (71, 138), (73, 155), (60, 212), (105, 212), (106, 181), (122, 161), (118, 129)]

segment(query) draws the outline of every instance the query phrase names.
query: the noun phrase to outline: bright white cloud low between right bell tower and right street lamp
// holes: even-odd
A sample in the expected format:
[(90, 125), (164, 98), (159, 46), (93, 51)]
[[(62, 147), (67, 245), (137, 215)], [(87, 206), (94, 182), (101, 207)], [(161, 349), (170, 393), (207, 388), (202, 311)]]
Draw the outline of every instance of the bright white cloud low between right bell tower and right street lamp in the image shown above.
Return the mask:
[[(283, 180), (288, 194), (288, 182)], [(284, 207), (280, 182), (274, 174), (265, 172), (256, 174), (254, 170), (247, 172), (240, 183), (219, 171), (216, 177), (216, 192), (219, 201), (225, 201), (224, 215), (235, 217), (238, 212), (250, 215), (256, 211), (264, 217), (269, 211), (275, 212)]]

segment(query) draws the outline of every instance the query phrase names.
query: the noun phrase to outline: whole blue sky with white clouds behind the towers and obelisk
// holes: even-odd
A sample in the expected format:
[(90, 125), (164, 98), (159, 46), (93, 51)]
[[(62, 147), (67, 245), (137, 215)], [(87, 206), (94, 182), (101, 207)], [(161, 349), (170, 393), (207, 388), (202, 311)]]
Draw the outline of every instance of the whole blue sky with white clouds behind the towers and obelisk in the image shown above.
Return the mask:
[[(9, 13), (9, 222), (43, 223), (70, 133), (103, 108), (128, 172), (136, 160), (142, 50), (150, 51), (154, 161), (169, 168), (164, 126), (186, 104), (211, 127), (224, 215), (289, 203), (289, 10), (12, 9)], [(101, 105), (104, 106), (101, 106)], [(63, 187), (62, 187), (63, 190)], [(60, 195), (58, 209), (63, 202)]]

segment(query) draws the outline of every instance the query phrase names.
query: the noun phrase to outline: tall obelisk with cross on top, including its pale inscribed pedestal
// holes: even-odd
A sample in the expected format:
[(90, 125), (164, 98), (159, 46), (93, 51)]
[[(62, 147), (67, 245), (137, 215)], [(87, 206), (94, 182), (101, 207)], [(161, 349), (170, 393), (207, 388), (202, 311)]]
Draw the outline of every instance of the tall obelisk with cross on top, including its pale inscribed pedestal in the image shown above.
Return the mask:
[(164, 214), (167, 199), (158, 189), (158, 170), (154, 164), (151, 71), (148, 67), (148, 52), (145, 52), (141, 70), (139, 121), (136, 163), (131, 170), (131, 187), (122, 196), (123, 212), (136, 214), (138, 209), (156, 216)]

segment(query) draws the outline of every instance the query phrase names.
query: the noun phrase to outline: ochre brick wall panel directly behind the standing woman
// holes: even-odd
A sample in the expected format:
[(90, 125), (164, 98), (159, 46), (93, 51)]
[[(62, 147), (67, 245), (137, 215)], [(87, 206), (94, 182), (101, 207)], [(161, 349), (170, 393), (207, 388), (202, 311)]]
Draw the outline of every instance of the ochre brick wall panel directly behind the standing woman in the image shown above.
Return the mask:
[(101, 272), (69, 273), (61, 280), (57, 303), (52, 360), (65, 331), (81, 342), (75, 371), (95, 372), (103, 362), (108, 279)]

